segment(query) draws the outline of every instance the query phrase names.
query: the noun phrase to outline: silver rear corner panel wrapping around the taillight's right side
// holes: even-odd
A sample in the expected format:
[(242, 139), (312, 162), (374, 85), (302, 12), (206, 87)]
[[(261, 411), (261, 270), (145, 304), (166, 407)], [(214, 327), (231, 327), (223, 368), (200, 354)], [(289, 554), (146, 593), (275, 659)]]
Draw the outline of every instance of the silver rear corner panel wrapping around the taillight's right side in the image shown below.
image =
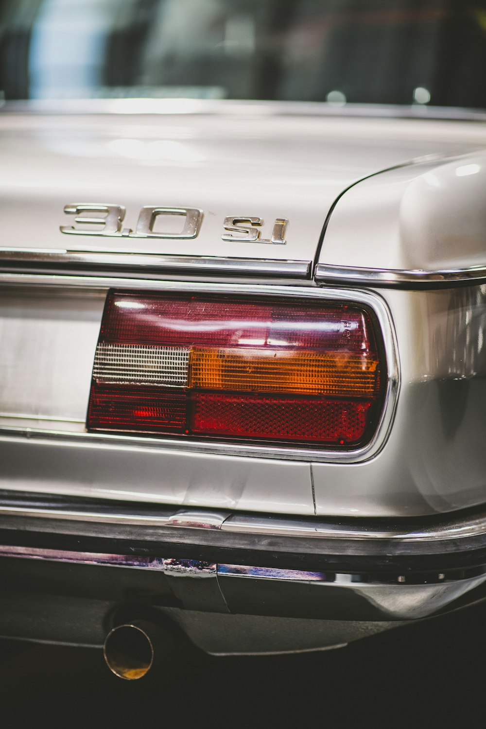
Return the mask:
[(485, 502), (486, 287), (381, 291), (399, 343), (390, 437), (364, 464), (314, 464), (318, 514), (420, 515)]

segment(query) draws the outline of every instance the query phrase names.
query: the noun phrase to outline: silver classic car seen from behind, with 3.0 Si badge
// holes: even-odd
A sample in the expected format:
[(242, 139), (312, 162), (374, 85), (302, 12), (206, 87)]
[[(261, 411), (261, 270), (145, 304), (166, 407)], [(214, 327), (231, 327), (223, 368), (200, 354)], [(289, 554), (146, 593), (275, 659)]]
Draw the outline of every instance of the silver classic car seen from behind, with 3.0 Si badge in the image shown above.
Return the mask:
[(1, 636), (133, 679), (483, 599), (477, 6), (4, 0)]

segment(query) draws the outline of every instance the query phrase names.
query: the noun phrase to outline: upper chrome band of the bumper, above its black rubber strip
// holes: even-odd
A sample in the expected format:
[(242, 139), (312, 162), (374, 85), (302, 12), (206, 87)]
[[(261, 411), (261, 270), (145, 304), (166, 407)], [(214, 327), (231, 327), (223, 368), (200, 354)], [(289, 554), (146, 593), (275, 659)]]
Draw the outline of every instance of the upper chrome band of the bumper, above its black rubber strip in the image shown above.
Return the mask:
[[(4, 492), (5, 493), (5, 492)], [(12, 501), (17, 504), (1, 502), (0, 515), (44, 518), (60, 521), (85, 521), (87, 523), (111, 523), (120, 526), (157, 526), (171, 527), (176, 539), (179, 529), (219, 529), (230, 534), (255, 534), (261, 537), (296, 537), (299, 539), (340, 539), (349, 542), (444, 542), (446, 540), (467, 539), (486, 536), (486, 510), (473, 515), (442, 515), (423, 526), (396, 526), (396, 520), (344, 519), (324, 521), (321, 518), (295, 516), (267, 516), (262, 514), (238, 514), (213, 510), (180, 510), (164, 504), (157, 505), (157, 511), (150, 513), (146, 504), (140, 504), (135, 511), (133, 504), (113, 502), (113, 506), (99, 507), (87, 504), (85, 509), (70, 506), (42, 505), (43, 494), (22, 494), (12, 492)], [(36, 505), (21, 503), (22, 498), (35, 499)], [(9, 497), (3, 496), (4, 499)], [(62, 496), (58, 496), (62, 500)], [(152, 510), (154, 504), (151, 504)], [(420, 523), (422, 520), (418, 520)], [(409, 520), (407, 520), (409, 523)]]

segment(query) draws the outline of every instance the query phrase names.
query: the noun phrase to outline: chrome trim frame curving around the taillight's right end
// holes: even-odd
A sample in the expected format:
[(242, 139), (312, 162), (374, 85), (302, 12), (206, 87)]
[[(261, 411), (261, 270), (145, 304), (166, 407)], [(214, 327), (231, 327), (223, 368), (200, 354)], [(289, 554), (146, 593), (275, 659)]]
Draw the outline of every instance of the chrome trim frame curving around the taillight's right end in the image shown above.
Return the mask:
[(321, 289), (316, 287), (278, 286), (271, 284), (204, 284), (199, 281), (154, 281), (138, 278), (103, 278), (90, 276), (36, 276), (35, 274), (0, 273), (0, 284), (12, 283), (23, 285), (42, 286), (82, 286), (95, 289), (144, 289), (146, 291), (192, 291), (203, 293), (224, 294), (258, 294), (274, 297), (299, 297), (312, 299), (326, 299), (337, 301), (350, 301), (358, 305), (365, 305), (375, 312), (383, 335), (385, 357), (388, 371), (388, 383), (385, 392), (385, 403), (372, 441), (355, 451), (326, 451), (324, 448), (299, 448), (297, 446), (260, 445), (253, 443), (211, 443), (203, 440), (171, 440), (170, 437), (139, 437), (137, 435), (73, 433), (48, 429), (23, 429), (21, 427), (0, 427), (0, 437), (21, 437), (28, 435), (34, 437), (71, 440), (71, 443), (89, 445), (90, 443), (106, 443), (160, 448), (161, 450), (198, 451), (200, 453), (224, 453), (232, 456), (256, 456), (260, 458), (291, 459), (299, 461), (324, 461), (328, 463), (358, 463), (372, 458), (385, 445), (393, 423), (396, 401), (400, 388), (400, 367), (396, 334), (388, 305), (382, 297), (375, 292), (353, 289)]

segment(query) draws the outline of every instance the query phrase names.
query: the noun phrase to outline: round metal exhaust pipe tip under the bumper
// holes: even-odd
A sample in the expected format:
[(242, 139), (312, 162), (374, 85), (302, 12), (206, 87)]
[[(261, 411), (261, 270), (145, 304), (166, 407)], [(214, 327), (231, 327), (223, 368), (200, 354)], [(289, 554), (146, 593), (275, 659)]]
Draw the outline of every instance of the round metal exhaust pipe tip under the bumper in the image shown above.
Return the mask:
[(115, 676), (135, 681), (141, 679), (157, 663), (173, 653), (175, 641), (160, 625), (136, 621), (116, 625), (106, 636), (103, 655)]

